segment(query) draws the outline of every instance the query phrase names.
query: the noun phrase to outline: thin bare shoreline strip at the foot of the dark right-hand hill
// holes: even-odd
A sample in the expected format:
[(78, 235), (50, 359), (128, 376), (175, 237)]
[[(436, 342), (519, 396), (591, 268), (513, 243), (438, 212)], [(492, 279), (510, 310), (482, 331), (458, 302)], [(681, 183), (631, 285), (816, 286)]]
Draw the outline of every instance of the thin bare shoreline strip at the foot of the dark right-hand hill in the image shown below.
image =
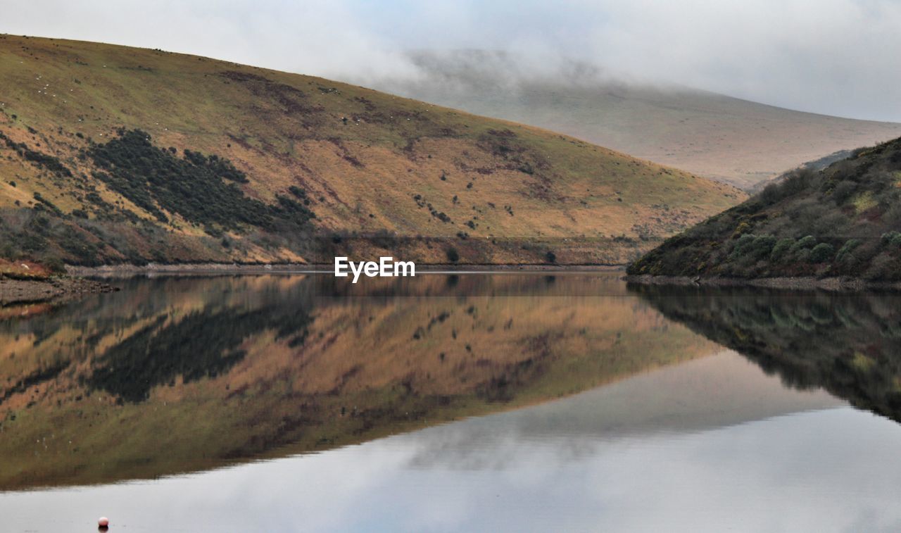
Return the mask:
[(901, 290), (901, 281), (870, 281), (860, 278), (692, 278), (690, 276), (623, 276), (627, 283), (680, 287), (758, 287), (761, 289), (824, 289), (861, 291), (870, 289)]

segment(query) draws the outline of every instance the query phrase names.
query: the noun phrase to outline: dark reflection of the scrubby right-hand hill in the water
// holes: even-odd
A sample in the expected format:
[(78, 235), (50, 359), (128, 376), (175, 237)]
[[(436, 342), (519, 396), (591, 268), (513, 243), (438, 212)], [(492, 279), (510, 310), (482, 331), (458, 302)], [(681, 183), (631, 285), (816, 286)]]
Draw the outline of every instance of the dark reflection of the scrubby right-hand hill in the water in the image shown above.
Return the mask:
[(899, 295), (636, 287), (664, 316), (798, 388), (901, 421)]

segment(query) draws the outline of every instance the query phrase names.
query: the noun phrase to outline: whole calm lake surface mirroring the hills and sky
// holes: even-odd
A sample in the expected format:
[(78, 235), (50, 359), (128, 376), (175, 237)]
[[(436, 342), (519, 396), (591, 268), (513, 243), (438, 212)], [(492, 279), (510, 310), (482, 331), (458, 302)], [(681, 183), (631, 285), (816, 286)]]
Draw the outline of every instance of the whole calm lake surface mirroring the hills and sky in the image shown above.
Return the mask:
[(0, 530), (901, 528), (901, 297), (617, 276), (0, 308)]

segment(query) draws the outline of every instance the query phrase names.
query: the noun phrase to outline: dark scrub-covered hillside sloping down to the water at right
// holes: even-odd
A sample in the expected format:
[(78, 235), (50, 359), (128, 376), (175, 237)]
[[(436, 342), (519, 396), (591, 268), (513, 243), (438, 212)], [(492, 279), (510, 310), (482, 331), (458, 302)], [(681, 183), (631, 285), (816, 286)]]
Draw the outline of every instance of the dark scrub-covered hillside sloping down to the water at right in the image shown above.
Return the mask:
[(901, 280), (901, 139), (796, 171), (668, 239), (629, 273)]

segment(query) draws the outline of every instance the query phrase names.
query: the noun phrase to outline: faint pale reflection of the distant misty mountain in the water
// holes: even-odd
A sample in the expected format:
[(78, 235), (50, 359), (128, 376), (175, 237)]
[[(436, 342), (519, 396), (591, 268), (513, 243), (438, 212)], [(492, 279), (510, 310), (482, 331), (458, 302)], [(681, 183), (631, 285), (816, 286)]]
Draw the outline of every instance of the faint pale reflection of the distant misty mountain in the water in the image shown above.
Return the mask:
[(581, 392), (566, 400), (405, 436), (417, 467), (485, 469), (540, 442), (557, 461), (599, 454), (600, 443), (653, 438), (843, 405), (825, 391), (787, 389), (731, 350)]

